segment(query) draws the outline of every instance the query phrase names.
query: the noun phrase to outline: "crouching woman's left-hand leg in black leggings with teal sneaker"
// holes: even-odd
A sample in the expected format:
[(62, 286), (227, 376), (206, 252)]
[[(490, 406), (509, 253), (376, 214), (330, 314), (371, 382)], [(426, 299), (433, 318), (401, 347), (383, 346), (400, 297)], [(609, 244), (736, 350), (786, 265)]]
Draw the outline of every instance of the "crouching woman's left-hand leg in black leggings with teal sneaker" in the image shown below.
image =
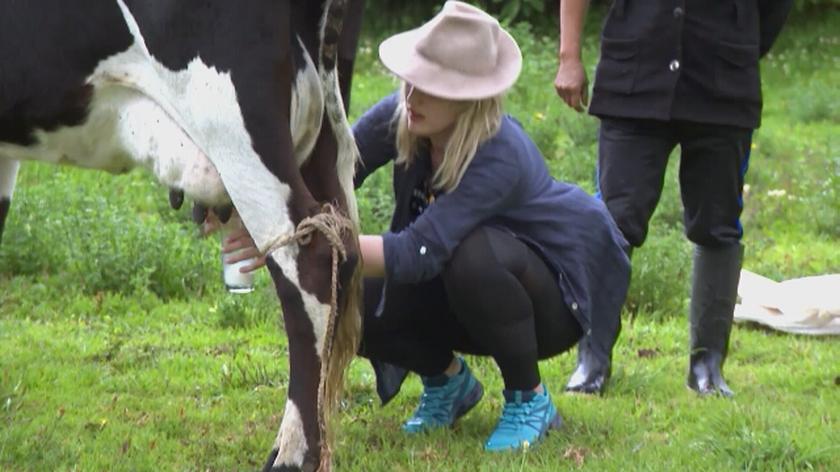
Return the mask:
[[(399, 391), (406, 370), (420, 375), (420, 405), (403, 424), (408, 433), (452, 425), (481, 400), (484, 388), (453, 346), (466, 336), (452, 315), (439, 278), (388, 287), (365, 280), (360, 354), (371, 360), (383, 403)], [(385, 306), (380, 306), (380, 305)], [(454, 368), (451, 368), (454, 367)], [(451, 371), (451, 372), (448, 372)]]

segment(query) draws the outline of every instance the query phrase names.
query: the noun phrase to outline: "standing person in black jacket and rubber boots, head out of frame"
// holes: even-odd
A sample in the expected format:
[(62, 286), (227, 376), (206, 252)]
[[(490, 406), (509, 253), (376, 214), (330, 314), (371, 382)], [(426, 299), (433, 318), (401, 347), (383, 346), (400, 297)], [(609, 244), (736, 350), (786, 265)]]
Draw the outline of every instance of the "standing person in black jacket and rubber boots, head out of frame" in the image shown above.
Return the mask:
[[(587, 0), (560, 1), (554, 86), (570, 107), (587, 102), (580, 38)], [(759, 58), (792, 0), (615, 0), (601, 35), (589, 113), (601, 120), (598, 186), (633, 247), (644, 243), (668, 156), (679, 144), (686, 236), (695, 244), (688, 386), (732, 395), (722, 367), (741, 270), (741, 191), (761, 118)], [(618, 330), (580, 344), (567, 390), (600, 392)]]

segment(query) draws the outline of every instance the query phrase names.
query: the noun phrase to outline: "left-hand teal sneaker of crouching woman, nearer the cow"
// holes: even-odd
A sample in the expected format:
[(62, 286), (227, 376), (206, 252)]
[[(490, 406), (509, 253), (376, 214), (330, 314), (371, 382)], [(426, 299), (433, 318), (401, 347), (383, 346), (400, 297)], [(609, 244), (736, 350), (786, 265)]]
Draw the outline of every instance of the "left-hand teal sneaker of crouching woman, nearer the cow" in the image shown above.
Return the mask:
[(421, 377), (423, 395), (420, 405), (414, 416), (403, 424), (403, 431), (414, 434), (451, 426), (481, 400), (484, 387), (473, 377), (464, 359), (459, 357), (458, 361), (461, 371), (453, 377), (445, 374)]

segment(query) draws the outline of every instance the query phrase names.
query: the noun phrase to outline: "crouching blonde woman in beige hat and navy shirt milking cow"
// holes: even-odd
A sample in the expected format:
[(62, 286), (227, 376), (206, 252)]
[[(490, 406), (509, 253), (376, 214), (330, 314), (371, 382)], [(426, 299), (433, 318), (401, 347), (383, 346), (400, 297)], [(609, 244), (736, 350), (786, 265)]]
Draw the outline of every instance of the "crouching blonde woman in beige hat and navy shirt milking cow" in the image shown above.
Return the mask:
[[(356, 185), (393, 162), (396, 206), (390, 231), (360, 236), (361, 354), (383, 402), (407, 371), (420, 375), (409, 434), (451, 426), (482, 398), (456, 352), (492, 357), (505, 403), (485, 449), (534, 444), (561, 424), (538, 361), (618, 322), (627, 243), (604, 204), (551, 178), (502, 113), (522, 58), (493, 17), (446, 2), (420, 28), (385, 40), (379, 55), (402, 87), (354, 126)], [(226, 251), (255, 251), (242, 239)]]

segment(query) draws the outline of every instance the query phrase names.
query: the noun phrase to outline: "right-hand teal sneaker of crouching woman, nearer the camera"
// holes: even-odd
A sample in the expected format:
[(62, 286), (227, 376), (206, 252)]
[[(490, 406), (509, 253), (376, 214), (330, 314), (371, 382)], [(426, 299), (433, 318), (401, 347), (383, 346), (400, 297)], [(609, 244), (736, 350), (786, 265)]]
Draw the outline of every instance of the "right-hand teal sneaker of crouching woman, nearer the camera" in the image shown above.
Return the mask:
[(502, 393), (505, 408), (496, 429), (484, 444), (485, 450), (508, 451), (533, 446), (548, 434), (548, 430), (563, 424), (545, 385), (543, 393), (530, 390), (505, 390)]

